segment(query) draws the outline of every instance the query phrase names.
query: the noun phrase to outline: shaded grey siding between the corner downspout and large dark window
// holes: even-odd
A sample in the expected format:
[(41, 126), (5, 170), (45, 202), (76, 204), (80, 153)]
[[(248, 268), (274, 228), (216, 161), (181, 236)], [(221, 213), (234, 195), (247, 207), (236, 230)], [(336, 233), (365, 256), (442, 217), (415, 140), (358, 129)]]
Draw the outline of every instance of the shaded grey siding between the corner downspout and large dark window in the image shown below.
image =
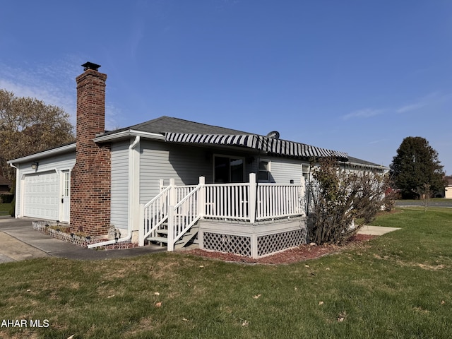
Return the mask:
[(174, 178), (177, 185), (196, 185), (200, 176), (212, 182), (212, 159), (206, 148), (142, 141), (140, 157), (140, 203), (159, 193), (159, 179)]

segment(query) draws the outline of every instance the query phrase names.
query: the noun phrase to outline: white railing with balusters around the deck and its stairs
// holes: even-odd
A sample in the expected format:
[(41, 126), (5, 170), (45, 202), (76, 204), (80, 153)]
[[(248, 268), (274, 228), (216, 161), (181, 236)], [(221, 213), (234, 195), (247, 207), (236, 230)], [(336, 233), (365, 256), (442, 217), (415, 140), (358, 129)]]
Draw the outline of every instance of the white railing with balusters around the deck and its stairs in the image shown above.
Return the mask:
[(200, 177), (197, 186), (176, 186), (172, 179), (169, 186), (160, 187), (160, 194), (142, 206), (144, 231), (139, 243), (168, 220), (169, 251), (200, 218), (256, 222), (305, 215), (304, 182), (261, 184), (251, 173), (247, 183), (205, 184)]

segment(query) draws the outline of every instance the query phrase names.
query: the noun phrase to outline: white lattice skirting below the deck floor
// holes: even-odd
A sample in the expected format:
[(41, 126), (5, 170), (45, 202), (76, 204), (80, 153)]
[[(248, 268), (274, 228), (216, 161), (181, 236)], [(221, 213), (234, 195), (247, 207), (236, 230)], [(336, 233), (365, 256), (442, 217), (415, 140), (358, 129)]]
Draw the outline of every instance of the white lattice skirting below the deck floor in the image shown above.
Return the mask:
[(307, 243), (305, 218), (278, 220), (263, 225), (239, 222), (200, 222), (200, 247), (260, 258)]

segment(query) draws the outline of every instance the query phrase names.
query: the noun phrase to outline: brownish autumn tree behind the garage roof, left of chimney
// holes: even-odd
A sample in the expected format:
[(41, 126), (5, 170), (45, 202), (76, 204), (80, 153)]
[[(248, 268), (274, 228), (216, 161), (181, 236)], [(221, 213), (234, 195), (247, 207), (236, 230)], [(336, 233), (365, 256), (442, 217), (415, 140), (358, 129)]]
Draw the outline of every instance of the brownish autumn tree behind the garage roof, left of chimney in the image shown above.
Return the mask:
[(64, 109), (0, 89), (0, 174), (6, 179), (14, 179), (6, 161), (73, 140), (73, 126)]

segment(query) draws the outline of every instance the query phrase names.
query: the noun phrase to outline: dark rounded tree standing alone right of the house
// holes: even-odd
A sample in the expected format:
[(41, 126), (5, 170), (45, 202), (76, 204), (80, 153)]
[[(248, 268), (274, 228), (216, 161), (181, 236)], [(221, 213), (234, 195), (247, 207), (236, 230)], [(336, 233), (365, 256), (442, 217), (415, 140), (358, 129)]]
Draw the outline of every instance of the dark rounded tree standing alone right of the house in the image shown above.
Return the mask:
[(438, 152), (420, 136), (403, 139), (390, 165), (390, 174), (403, 198), (415, 198), (415, 192), (427, 185), (432, 192), (442, 191), (445, 185)]

